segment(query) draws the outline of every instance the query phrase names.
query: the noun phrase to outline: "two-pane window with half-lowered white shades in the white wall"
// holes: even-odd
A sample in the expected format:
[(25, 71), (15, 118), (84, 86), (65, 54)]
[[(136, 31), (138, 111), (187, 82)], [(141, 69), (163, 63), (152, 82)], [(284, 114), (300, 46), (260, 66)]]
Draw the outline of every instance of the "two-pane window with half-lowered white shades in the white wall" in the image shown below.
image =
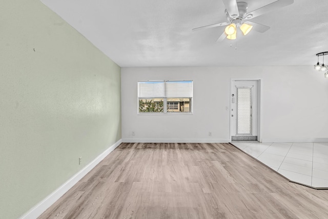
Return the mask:
[(192, 96), (192, 81), (140, 81), (138, 113), (191, 114)]

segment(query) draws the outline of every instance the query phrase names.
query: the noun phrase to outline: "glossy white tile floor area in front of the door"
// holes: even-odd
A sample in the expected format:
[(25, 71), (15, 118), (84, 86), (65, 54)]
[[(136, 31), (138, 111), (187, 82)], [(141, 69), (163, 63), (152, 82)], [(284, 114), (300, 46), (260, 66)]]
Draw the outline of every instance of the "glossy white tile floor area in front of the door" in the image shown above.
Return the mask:
[(328, 189), (328, 143), (232, 144), (290, 181)]

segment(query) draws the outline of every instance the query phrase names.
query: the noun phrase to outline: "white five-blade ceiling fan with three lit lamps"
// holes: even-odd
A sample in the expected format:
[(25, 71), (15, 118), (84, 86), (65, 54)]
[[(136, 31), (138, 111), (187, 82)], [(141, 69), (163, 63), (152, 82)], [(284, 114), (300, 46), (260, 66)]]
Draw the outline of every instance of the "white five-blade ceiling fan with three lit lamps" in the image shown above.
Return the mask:
[(276, 2), (273, 2), (269, 5), (265, 5), (251, 12), (247, 12), (248, 4), (245, 2), (236, 2), (236, 0), (222, 0), (222, 2), (227, 8), (224, 12), (226, 13), (228, 22), (197, 27), (194, 28), (193, 31), (227, 25), (226, 29), (224, 29), (224, 32), (219, 36), (217, 41), (223, 41), (224, 38), (236, 39), (236, 33), (238, 28), (241, 30), (243, 35), (247, 35), (252, 29), (257, 32), (264, 33), (265, 31), (270, 29), (269, 26), (250, 22), (248, 20), (267, 13), (271, 10), (291, 5), (294, 3), (294, 0), (277, 0)]

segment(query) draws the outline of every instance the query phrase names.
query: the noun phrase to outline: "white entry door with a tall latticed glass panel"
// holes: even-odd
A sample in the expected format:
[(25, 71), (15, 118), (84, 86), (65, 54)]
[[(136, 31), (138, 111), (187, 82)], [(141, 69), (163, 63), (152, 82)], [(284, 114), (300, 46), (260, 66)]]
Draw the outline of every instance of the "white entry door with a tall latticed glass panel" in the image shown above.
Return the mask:
[(231, 87), (231, 139), (257, 141), (258, 81), (233, 81)]

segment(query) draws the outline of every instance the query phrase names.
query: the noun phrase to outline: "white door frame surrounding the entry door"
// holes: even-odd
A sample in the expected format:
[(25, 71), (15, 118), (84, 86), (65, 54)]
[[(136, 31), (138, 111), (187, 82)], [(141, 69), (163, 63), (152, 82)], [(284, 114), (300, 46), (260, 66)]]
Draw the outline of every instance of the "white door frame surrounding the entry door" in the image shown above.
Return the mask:
[(257, 141), (262, 142), (262, 78), (230, 78), (230, 95), (229, 95), (229, 105), (230, 105), (230, 113), (229, 113), (229, 139), (232, 142), (232, 103), (231, 103), (231, 95), (232, 95), (232, 86), (235, 81), (257, 81)]

